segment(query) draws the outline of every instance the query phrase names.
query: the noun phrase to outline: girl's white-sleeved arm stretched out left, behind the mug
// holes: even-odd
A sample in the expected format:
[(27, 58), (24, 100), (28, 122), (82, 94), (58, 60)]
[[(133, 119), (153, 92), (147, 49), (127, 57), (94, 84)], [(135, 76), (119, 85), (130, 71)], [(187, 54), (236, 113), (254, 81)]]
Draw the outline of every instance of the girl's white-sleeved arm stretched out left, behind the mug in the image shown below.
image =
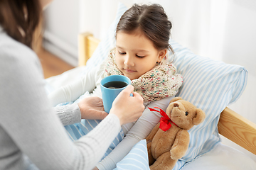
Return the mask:
[(103, 64), (94, 67), (89, 72), (86, 72), (80, 79), (53, 91), (48, 95), (52, 106), (56, 106), (59, 103), (75, 101), (86, 91), (92, 92), (96, 87), (96, 82), (102, 78)]

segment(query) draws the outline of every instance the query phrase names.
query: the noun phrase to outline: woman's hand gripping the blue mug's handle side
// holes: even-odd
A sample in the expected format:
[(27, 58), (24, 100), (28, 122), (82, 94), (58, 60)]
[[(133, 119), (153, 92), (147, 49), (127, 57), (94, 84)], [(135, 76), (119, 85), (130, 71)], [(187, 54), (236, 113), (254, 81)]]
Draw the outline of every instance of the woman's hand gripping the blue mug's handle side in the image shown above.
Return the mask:
[(134, 92), (134, 87), (129, 85), (114, 99), (110, 114), (117, 115), (120, 124), (124, 125), (136, 121), (142, 115), (144, 108), (142, 96)]

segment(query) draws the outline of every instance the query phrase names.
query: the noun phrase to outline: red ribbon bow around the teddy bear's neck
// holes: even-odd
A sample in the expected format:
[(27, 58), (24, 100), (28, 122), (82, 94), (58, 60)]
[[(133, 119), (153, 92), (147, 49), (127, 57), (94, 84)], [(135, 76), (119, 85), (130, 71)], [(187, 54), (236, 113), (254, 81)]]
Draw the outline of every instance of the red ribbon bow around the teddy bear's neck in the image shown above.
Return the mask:
[[(154, 107), (154, 108), (158, 108), (158, 107)], [(157, 111), (156, 109), (154, 109), (154, 108), (149, 108), (149, 111)], [(159, 126), (159, 128), (161, 129), (161, 130), (164, 130), (164, 131), (166, 131), (166, 130), (169, 130), (169, 128), (171, 128), (171, 123), (174, 123), (173, 121), (171, 121), (171, 119), (169, 118), (169, 116), (168, 115), (166, 115), (166, 113), (163, 111), (163, 110), (161, 110), (161, 108), (158, 108), (160, 111), (157, 111), (157, 112), (159, 112), (163, 117), (161, 117), (161, 119), (160, 119), (160, 126)], [(174, 125), (176, 125), (175, 123), (174, 123)], [(177, 125), (176, 125), (177, 126)]]

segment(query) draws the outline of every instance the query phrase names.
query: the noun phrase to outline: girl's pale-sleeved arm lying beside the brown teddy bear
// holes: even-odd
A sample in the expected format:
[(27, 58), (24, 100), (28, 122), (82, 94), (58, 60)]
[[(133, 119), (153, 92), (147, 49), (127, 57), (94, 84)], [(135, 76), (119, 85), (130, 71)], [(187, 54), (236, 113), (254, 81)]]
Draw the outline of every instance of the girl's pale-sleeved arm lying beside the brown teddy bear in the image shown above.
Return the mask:
[[(151, 102), (147, 107), (159, 107), (166, 111), (171, 98), (174, 97), (163, 98), (159, 101)], [(114, 150), (102, 160), (102, 162), (97, 164), (97, 168), (100, 170), (114, 169), (117, 162), (121, 161), (129, 153), (130, 149), (137, 144), (137, 142), (145, 139), (146, 136), (149, 135), (149, 132), (151, 132), (154, 126), (159, 123), (160, 118), (160, 113), (151, 112), (148, 108), (145, 108), (142, 116), (137, 120), (129, 132), (127, 132), (127, 135), (124, 137), (122, 142), (120, 142), (119, 145), (117, 145), (117, 147), (115, 147)]]

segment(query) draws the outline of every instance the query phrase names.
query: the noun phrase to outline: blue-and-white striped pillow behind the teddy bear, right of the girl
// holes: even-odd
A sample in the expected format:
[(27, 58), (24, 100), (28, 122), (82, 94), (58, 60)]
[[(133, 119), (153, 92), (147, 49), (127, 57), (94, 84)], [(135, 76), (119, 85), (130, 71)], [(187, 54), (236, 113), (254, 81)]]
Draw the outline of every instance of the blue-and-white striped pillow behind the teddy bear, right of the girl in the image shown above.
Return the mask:
[(237, 101), (245, 90), (247, 70), (239, 65), (195, 55), (174, 40), (170, 40), (170, 44), (176, 52), (174, 65), (183, 76), (183, 86), (176, 96), (206, 112), (204, 122), (188, 131), (190, 144), (186, 155), (175, 166), (179, 169), (220, 142), (217, 128), (220, 113)]

